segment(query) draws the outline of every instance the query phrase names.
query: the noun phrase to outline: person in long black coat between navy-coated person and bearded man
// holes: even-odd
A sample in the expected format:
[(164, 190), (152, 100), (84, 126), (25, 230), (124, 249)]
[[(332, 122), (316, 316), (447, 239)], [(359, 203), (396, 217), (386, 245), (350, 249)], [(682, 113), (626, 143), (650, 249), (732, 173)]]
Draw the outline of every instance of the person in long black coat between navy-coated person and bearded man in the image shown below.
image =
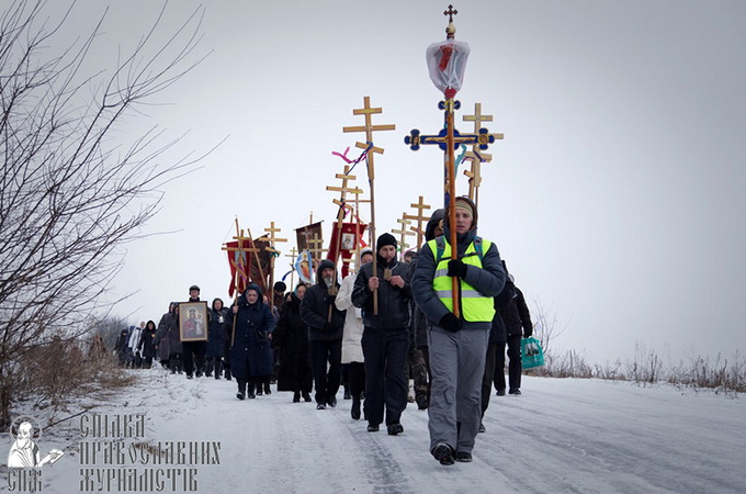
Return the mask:
[(272, 346), (280, 357), (278, 391), (292, 391), (293, 402), (298, 403), (301, 395), (310, 402), (314, 374), (308, 359), (308, 325), (301, 318), (301, 302), (306, 294), (305, 283), (298, 283), (280, 311), (278, 328), (272, 335)]

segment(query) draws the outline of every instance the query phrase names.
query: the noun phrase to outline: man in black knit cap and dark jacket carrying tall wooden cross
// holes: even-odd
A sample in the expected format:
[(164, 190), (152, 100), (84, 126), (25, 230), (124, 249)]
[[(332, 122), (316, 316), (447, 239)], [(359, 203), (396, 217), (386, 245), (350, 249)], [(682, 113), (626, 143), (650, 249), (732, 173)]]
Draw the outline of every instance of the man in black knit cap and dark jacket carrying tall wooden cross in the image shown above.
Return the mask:
[[(409, 349), (408, 266), (399, 262), (396, 238), (385, 233), (376, 243), (376, 271), (373, 263), (360, 269), (352, 290), (352, 303), (362, 308), (363, 355), (365, 356), (365, 415), (368, 431), (375, 433), (384, 422), (391, 436), (404, 431), (400, 418), (407, 406)], [(378, 292), (377, 311), (373, 292)]]

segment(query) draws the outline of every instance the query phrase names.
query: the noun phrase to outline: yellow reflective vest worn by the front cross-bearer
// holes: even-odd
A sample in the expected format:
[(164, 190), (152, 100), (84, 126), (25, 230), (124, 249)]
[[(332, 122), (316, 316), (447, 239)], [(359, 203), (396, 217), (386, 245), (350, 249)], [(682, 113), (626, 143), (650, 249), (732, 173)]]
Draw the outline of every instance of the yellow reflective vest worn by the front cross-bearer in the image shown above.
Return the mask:
[[(482, 242), (482, 251), (489, 250), (491, 243), (489, 240)], [(438, 299), (443, 302), (443, 305), (449, 311), (453, 312), (453, 285), (451, 277), (448, 276), (448, 262), (451, 260), (451, 246), (448, 242), (442, 242), (442, 254), (438, 249), (438, 239), (428, 242), (430, 250), (436, 258), (436, 276), (432, 279), (432, 288), (438, 294)], [(465, 265), (475, 266), (482, 269), (482, 255), (477, 251), (474, 242), (472, 242), (464, 257), (461, 260)], [(471, 284), (461, 280), (460, 285), (460, 301), (461, 301), (461, 316), (464, 321), (470, 323), (486, 323), (491, 322), (495, 316), (495, 302), (491, 296), (485, 296), (474, 289)]]

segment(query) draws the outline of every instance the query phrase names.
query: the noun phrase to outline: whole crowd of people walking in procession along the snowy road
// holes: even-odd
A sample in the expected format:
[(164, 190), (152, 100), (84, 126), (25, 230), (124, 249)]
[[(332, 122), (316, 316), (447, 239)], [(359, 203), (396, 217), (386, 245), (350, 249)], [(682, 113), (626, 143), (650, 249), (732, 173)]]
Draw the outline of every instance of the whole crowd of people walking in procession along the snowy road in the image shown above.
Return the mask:
[[(250, 283), (229, 307), (214, 299), (204, 337), (183, 337), (188, 321), (180, 318), (194, 315), (171, 302), (157, 326), (148, 321), (122, 333), (120, 361), (150, 367), (158, 358), (188, 379), (235, 379), (238, 400), (270, 394), (276, 382), (276, 391), (292, 392), (295, 403), (314, 401), (317, 409), (335, 408), (343, 389), (351, 417), (363, 418), (370, 433), (385, 426), (391, 436), (404, 433), (403, 413), (416, 402), (429, 414), (431, 454), (445, 465), (472, 461), (493, 386), (498, 396), (506, 388), (521, 394), (520, 341), (533, 325), (496, 244), (476, 234), (475, 204), (457, 198), (453, 225), (449, 217), (436, 211), (426, 244), (404, 261), (396, 238), (384, 233), (341, 282), (325, 259), (312, 285), (285, 293), (278, 282), (270, 300)], [(188, 302), (200, 302), (197, 285), (189, 293)]]

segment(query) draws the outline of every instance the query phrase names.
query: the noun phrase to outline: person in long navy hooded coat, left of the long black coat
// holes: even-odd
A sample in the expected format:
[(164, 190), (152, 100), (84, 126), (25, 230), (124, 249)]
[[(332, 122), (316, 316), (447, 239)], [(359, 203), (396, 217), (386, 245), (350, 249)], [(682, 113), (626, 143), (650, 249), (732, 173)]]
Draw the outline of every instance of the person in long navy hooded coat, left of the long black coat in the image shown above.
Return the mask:
[[(236, 397), (256, 397), (257, 383), (272, 374), (271, 334), (274, 316), (262, 301), (261, 289), (250, 283), (231, 308), (235, 321), (230, 346), (230, 372), (238, 382)], [(231, 322), (233, 323), (233, 322)], [(248, 386), (248, 389), (247, 389)]]

